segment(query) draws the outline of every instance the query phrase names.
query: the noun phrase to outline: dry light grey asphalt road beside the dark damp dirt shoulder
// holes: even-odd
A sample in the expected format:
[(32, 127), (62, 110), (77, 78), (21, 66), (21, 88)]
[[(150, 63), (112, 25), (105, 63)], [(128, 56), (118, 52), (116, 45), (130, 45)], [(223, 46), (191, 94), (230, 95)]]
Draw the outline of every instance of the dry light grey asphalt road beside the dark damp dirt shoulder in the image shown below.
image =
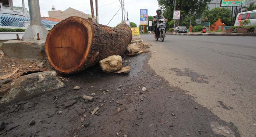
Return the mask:
[(149, 44), (157, 75), (226, 122), (243, 137), (256, 137), (256, 37), (172, 36)]

